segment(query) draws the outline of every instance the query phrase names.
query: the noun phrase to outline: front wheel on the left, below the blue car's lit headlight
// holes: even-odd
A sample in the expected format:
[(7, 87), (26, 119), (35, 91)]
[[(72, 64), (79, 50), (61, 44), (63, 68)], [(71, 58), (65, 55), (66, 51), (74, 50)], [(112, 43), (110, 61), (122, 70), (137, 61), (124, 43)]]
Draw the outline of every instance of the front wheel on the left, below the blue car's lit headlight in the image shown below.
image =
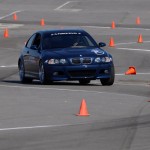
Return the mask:
[(41, 84), (44, 84), (44, 85), (51, 83), (45, 74), (44, 65), (42, 62), (39, 65), (39, 80)]

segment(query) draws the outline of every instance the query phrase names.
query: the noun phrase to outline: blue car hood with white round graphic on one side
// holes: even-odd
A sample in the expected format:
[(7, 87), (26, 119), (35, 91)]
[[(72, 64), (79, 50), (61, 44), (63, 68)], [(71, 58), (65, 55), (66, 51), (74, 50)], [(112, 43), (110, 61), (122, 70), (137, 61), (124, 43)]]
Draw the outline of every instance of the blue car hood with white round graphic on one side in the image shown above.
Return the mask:
[(64, 48), (56, 50), (46, 50), (44, 55), (47, 57), (98, 57), (107, 55), (106, 51), (99, 48)]

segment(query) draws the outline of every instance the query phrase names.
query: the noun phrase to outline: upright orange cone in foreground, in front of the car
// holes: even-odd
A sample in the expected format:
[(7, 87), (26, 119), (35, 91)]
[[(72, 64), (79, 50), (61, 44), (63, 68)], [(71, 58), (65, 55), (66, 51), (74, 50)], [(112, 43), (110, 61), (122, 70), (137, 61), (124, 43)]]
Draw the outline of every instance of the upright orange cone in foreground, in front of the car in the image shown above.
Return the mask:
[(89, 116), (90, 114), (88, 113), (88, 109), (86, 106), (85, 99), (82, 99), (81, 105), (80, 105), (80, 110), (77, 116)]

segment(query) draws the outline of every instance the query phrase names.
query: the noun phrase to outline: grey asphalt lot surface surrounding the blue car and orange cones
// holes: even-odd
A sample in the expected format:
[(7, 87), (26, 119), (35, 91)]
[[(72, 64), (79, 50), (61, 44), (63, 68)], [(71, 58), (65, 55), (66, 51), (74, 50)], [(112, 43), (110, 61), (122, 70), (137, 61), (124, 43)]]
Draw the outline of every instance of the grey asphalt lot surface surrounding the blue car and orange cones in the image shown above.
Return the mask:
[[(1, 0), (0, 150), (149, 150), (149, 5), (148, 0)], [(137, 16), (141, 25), (135, 24)], [(17, 59), (31, 34), (68, 27), (85, 29), (97, 42), (109, 44), (114, 37), (115, 47), (105, 49), (114, 57), (115, 84), (20, 84)], [(137, 75), (124, 75), (129, 66)], [(76, 116), (83, 98), (89, 117)]]

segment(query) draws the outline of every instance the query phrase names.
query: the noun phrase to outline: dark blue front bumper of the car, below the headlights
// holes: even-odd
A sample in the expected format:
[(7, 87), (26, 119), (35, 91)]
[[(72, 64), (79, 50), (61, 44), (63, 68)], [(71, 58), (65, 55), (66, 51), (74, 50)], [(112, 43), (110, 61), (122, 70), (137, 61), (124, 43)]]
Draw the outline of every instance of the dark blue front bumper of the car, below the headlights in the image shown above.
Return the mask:
[(112, 67), (113, 63), (77, 66), (44, 65), (47, 78), (54, 81), (110, 78)]

